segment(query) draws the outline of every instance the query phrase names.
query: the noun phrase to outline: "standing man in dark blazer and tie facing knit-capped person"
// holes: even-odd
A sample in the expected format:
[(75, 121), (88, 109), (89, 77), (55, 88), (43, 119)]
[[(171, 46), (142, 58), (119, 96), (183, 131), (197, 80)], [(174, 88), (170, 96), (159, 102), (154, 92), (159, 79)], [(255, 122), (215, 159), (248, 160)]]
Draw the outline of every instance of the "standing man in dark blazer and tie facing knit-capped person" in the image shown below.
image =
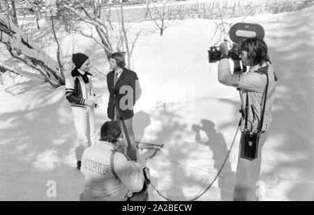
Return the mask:
[(111, 55), (110, 69), (113, 71), (107, 74), (107, 88), (110, 93), (107, 116), (111, 120), (120, 122), (122, 128), (121, 120), (124, 120), (130, 138), (130, 145), (126, 148), (125, 154), (133, 161), (137, 161), (138, 150), (133, 132), (133, 107), (142, 91), (137, 74), (126, 69), (125, 65), (122, 54), (116, 52)]

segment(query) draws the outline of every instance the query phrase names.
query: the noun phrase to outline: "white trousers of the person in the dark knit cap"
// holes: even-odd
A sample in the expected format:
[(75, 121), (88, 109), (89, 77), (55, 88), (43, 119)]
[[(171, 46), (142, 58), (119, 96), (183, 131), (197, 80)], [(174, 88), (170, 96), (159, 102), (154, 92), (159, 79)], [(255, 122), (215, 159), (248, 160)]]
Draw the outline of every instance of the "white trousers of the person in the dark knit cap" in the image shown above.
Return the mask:
[(72, 106), (72, 115), (77, 134), (75, 155), (81, 161), (85, 148), (96, 143), (95, 111), (89, 106), (86, 109)]

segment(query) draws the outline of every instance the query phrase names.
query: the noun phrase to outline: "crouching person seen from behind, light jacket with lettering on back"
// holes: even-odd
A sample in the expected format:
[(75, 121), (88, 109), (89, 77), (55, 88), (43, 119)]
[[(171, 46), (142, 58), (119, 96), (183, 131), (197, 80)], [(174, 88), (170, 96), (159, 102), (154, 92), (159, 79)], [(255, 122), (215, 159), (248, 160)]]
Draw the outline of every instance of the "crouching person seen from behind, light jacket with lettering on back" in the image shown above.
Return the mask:
[(100, 128), (99, 143), (84, 150), (81, 172), (84, 174), (85, 184), (80, 200), (125, 201), (130, 193), (142, 190), (142, 165), (128, 161), (120, 152), (112, 156), (114, 150), (119, 149), (119, 138), (119, 123), (105, 122)]

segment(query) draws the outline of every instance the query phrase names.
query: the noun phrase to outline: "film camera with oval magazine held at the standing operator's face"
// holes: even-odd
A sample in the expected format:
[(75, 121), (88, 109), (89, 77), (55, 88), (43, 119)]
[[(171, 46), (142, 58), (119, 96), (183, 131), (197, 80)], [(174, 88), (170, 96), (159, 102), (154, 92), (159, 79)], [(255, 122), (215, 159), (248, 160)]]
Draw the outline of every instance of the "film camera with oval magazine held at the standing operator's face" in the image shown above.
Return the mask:
[[(239, 57), (239, 44), (242, 40), (246, 38), (264, 38), (264, 29), (260, 24), (253, 23), (244, 23), (239, 22), (237, 24), (232, 25), (229, 31), (230, 40), (234, 43), (230, 51), (228, 52), (228, 56), (232, 58), (234, 61), (240, 61)], [(227, 40), (225, 40), (227, 41)], [(221, 52), (218, 50), (218, 47), (210, 47), (208, 50), (209, 63), (216, 63), (220, 61)]]

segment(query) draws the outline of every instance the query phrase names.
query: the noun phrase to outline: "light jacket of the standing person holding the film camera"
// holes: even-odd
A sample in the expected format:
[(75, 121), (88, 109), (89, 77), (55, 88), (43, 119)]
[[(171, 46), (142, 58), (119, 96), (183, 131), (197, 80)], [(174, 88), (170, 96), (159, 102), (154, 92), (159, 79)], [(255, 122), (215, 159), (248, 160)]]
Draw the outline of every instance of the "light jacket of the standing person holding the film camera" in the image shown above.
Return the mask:
[[(248, 94), (248, 129), (257, 130), (260, 122), (262, 105), (264, 101), (264, 90), (267, 84), (267, 72), (269, 75), (269, 86), (267, 92), (267, 102), (265, 106), (264, 122), (262, 131), (267, 131), (271, 124), (271, 106), (275, 99), (276, 81), (274, 67), (267, 62), (262, 66), (255, 65), (244, 74), (232, 74), (230, 62), (227, 58), (222, 59), (218, 64), (218, 81), (227, 86), (240, 88), (242, 112), (246, 106), (246, 94)], [(242, 117), (241, 130), (244, 130), (244, 116)]]

